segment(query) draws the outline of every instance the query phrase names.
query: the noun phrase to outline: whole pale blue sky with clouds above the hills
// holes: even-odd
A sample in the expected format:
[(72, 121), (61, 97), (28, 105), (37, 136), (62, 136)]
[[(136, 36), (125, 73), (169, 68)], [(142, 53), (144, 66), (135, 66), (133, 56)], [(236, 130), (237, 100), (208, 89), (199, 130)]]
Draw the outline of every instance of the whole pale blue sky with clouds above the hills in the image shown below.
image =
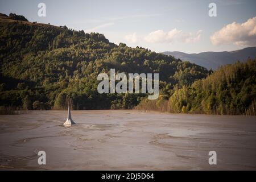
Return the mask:
[[(38, 16), (39, 3), (46, 16)], [(210, 3), (216, 4), (216, 15)], [(234, 51), (256, 46), (255, 0), (0, 0), (0, 13), (31, 22), (100, 32), (110, 42), (151, 51)]]

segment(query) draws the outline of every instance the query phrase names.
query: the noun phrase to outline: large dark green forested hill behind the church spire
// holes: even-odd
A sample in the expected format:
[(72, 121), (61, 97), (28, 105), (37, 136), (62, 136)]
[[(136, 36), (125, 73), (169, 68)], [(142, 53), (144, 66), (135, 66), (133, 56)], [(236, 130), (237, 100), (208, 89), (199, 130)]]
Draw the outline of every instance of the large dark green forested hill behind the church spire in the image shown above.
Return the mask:
[(209, 71), (141, 47), (110, 43), (104, 35), (28, 22), (0, 14), (0, 105), (23, 109), (130, 109), (144, 94), (99, 94), (97, 75), (159, 73), (160, 94), (191, 85)]

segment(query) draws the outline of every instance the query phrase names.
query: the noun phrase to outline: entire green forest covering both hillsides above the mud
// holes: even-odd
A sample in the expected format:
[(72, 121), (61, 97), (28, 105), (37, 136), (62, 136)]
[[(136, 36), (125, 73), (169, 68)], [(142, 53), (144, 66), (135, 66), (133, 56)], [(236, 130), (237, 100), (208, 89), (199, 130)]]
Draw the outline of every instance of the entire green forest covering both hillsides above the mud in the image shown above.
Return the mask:
[[(16, 110), (142, 109), (172, 113), (255, 115), (256, 60), (216, 71), (103, 34), (0, 14), (0, 106)], [(99, 94), (97, 75), (159, 73), (159, 98)]]

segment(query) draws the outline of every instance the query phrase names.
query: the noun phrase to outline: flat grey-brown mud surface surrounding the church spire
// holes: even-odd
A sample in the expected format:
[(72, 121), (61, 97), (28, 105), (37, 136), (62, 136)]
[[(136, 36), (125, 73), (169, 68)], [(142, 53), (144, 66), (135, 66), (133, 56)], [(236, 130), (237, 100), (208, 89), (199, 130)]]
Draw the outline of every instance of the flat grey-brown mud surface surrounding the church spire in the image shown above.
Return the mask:
[[(0, 115), (0, 169), (256, 170), (256, 117), (84, 110), (64, 127), (66, 117)], [(217, 165), (208, 163), (212, 150)]]

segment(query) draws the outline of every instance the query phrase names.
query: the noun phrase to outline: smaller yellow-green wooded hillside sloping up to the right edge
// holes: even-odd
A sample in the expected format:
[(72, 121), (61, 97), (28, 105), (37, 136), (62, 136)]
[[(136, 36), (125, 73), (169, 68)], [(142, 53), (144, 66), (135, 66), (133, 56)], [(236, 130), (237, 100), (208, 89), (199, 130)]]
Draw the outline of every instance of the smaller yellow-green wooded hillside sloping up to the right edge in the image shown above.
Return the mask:
[(256, 59), (218, 68), (211, 75), (176, 89), (167, 100), (143, 100), (138, 109), (171, 113), (256, 115)]

